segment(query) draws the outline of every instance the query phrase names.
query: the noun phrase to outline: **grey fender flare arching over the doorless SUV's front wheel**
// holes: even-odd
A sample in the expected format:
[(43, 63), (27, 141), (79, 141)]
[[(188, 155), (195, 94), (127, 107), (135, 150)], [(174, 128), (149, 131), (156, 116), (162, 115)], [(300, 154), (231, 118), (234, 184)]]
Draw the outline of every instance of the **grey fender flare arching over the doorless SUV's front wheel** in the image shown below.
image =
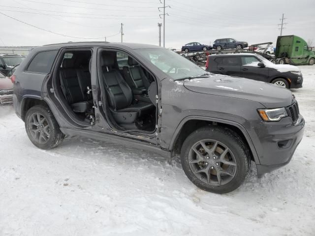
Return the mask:
[(242, 134), (244, 135), (244, 137), (246, 139), (246, 142), (248, 143), (248, 145), (249, 145), (249, 147), (251, 149), (252, 157), (253, 157), (255, 163), (257, 165), (260, 164), (256, 148), (254, 147), (252, 139), (251, 139), (250, 135), (248, 134), (247, 130), (240, 123), (237, 123), (237, 122), (232, 121), (232, 120), (227, 120), (227, 119), (213, 118), (213, 117), (203, 117), (203, 116), (189, 116), (189, 117), (185, 117), (184, 119), (181, 120), (181, 122), (178, 124), (177, 128), (175, 129), (175, 132), (174, 132), (173, 137), (172, 137), (171, 142), (170, 142), (170, 146), (169, 146), (170, 149), (174, 146), (175, 142), (177, 141), (178, 135), (180, 134), (184, 124), (187, 121), (192, 120), (192, 119), (219, 122), (219, 123), (223, 123), (223, 124), (229, 124), (229, 125), (232, 125), (232, 126), (238, 128), (242, 132)]

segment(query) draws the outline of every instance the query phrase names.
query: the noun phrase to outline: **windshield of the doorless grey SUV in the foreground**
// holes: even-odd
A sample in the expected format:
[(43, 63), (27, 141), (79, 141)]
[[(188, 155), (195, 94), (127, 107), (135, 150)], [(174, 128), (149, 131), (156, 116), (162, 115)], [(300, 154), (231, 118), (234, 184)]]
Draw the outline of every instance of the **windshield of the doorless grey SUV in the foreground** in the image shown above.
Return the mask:
[(208, 74), (198, 65), (167, 49), (138, 49), (137, 51), (173, 80)]

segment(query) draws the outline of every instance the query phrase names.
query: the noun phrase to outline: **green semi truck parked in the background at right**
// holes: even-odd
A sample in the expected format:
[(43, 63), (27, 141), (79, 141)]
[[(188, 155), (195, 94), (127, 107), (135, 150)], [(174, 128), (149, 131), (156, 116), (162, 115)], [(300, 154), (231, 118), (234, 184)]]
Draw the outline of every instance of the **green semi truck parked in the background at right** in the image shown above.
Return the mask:
[(277, 64), (315, 64), (315, 52), (296, 35), (278, 36), (275, 56)]

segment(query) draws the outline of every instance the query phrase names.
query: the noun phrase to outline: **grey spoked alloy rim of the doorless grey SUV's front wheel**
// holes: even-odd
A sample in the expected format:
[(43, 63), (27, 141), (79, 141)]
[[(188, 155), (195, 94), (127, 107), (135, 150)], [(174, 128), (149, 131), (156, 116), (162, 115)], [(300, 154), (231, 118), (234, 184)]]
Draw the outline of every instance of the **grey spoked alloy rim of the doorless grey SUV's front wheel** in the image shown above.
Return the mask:
[(237, 164), (232, 151), (217, 140), (201, 140), (189, 150), (189, 167), (204, 183), (221, 186), (236, 174)]

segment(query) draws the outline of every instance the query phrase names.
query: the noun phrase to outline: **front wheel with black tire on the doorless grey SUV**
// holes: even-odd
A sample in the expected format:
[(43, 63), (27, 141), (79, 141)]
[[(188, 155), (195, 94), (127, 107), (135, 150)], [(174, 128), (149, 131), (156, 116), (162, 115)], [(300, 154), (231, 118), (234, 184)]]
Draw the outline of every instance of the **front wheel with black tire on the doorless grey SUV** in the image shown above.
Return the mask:
[(181, 150), (187, 177), (199, 188), (227, 193), (238, 188), (250, 168), (249, 151), (232, 130), (219, 126), (191, 133)]

